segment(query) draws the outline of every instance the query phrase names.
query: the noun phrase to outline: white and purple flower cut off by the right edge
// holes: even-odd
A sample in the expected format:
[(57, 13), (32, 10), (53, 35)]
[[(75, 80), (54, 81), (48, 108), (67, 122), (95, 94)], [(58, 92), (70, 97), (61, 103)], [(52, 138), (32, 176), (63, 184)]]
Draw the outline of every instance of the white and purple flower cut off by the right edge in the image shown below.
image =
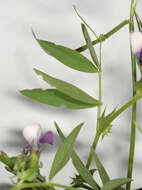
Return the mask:
[(140, 65), (142, 66), (142, 33), (131, 33), (131, 47), (133, 54), (138, 58)]

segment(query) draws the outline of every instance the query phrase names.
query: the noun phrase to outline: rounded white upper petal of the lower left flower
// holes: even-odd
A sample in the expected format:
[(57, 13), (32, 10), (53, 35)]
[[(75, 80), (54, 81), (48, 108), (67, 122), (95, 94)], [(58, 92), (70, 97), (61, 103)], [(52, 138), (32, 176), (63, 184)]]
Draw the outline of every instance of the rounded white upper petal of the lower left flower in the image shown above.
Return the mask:
[(23, 129), (23, 136), (29, 144), (37, 144), (41, 136), (41, 126), (39, 124), (27, 125)]

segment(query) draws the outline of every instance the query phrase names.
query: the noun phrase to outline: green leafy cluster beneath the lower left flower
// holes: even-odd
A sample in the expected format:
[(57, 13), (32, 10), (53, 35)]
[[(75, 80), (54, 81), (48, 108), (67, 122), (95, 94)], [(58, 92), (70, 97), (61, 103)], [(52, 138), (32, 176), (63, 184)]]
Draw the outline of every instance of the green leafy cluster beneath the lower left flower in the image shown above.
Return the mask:
[(30, 155), (20, 154), (19, 156), (8, 157), (1, 152), (0, 161), (6, 165), (6, 169), (14, 174), (17, 182), (33, 182), (44, 179), (39, 173), (39, 156), (33, 151)]

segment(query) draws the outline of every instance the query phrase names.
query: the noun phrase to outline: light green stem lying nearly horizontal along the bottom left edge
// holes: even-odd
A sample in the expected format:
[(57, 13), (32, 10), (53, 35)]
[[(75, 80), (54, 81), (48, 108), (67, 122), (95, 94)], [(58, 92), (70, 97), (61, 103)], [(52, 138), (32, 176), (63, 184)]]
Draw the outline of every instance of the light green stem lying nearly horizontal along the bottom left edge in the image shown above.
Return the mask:
[(57, 184), (57, 183), (45, 183), (45, 182), (41, 182), (41, 183), (23, 183), (23, 184), (17, 184), (16, 186), (14, 186), (13, 188), (11, 188), (11, 190), (19, 190), (19, 189), (24, 189), (24, 188), (28, 188), (28, 187), (60, 187), (60, 188), (65, 188), (65, 189), (69, 189), (69, 190), (77, 190), (77, 188), (74, 187), (70, 187), (70, 186), (66, 186), (66, 185), (61, 185), (61, 184)]

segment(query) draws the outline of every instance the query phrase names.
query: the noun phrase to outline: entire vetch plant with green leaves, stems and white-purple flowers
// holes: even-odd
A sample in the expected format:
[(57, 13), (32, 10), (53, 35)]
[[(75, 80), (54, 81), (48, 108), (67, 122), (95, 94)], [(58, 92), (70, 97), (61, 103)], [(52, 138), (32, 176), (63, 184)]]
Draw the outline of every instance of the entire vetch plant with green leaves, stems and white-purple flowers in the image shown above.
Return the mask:
[[(58, 187), (70, 190), (130, 190), (131, 183), (133, 180), (135, 180), (133, 179), (132, 174), (136, 127), (141, 131), (139, 124), (136, 122), (136, 103), (142, 98), (142, 21), (136, 12), (136, 2), (135, 0), (131, 0), (129, 19), (122, 21), (108, 33), (103, 35), (101, 34), (99, 36), (80, 16), (75, 6), (74, 9), (82, 21), (81, 29), (85, 40), (84, 46), (73, 50), (63, 45), (58, 45), (50, 41), (38, 39), (34, 32), (33, 35), (41, 48), (47, 53), (47, 56), (54, 57), (59, 62), (71, 69), (90, 73), (90, 75), (97, 74), (99, 87), (98, 98), (92, 97), (79, 87), (50, 76), (49, 74), (40, 71), (37, 68), (34, 68), (35, 73), (41, 76), (45, 82), (55, 88), (48, 88), (46, 90), (41, 88), (30, 90), (24, 89), (20, 92), (22, 95), (31, 98), (34, 101), (56, 107), (60, 107), (62, 105), (65, 105), (68, 109), (89, 109), (96, 107), (96, 132), (94, 139), (92, 139), (92, 145), (90, 147), (87, 161), (84, 163), (77, 152), (75, 152), (73, 149), (75, 140), (83, 126), (83, 123), (75, 127), (72, 132), (67, 137), (65, 137), (62, 130), (55, 122), (54, 124), (61, 138), (62, 144), (55, 154), (50, 172), (48, 174), (48, 179), (46, 179), (46, 177), (42, 176), (40, 172), (40, 168), (43, 165), (40, 161), (40, 155), (43, 144), (53, 144), (54, 135), (52, 131), (42, 134), (41, 126), (39, 124), (28, 125), (23, 129), (23, 136), (28, 142), (28, 145), (23, 148), (22, 153), (14, 157), (9, 157), (3, 151), (1, 151), (0, 154), (0, 161), (16, 178), (11, 190), (49, 190), (56, 188), (58, 189)], [(113, 34), (118, 32), (126, 25), (129, 26), (128, 35), (130, 35), (132, 98), (124, 105), (120, 106), (120, 108), (114, 108), (111, 113), (106, 114), (106, 108), (102, 108), (102, 105), (105, 105), (102, 100), (102, 72), (105, 72), (103, 71), (102, 65), (102, 46), (106, 39), (110, 38)], [(134, 31), (134, 26), (135, 28), (137, 27), (136, 31)], [(91, 40), (88, 29), (94, 34), (94, 41)], [(95, 44), (99, 44), (99, 55), (96, 54), (96, 47), (94, 46)], [(86, 49), (89, 50), (92, 60), (89, 60), (87, 57), (81, 54), (81, 52)], [(140, 72), (140, 77), (137, 74), (137, 71)], [(96, 153), (96, 147), (98, 146), (100, 138), (104, 138), (112, 131), (113, 120), (115, 120), (130, 106), (132, 106), (132, 117), (127, 174), (124, 174), (124, 178), (111, 179)], [(52, 183), (54, 176), (60, 172), (61, 169), (63, 169), (69, 159), (72, 160), (72, 164), (76, 169), (76, 174), (72, 177), (71, 184), (62, 185)], [(96, 168), (90, 168), (92, 162), (95, 162)], [(101, 184), (93, 176), (94, 172), (98, 172), (102, 182)]]

